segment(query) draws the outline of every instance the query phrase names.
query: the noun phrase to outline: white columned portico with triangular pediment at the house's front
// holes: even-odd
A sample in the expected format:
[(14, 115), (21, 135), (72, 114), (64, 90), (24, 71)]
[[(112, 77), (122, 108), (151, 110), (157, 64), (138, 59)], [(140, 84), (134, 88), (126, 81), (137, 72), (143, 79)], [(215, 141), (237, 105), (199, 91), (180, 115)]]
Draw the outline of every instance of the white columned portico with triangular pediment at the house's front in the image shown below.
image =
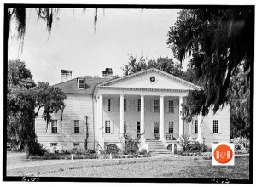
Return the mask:
[[(122, 143), (125, 131), (135, 139), (139, 132), (142, 147), (146, 140), (159, 139), (166, 144), (168, 139), (183, 136), (181, 104), (189, 88), (195, 85), (182, 82), (184, 88), (181, 88), (177, 77), (150, 70), (96, 86), (97, 134), (102, 147), (106, 142)], [(169, 85), (165, 83), (166, 78)]]

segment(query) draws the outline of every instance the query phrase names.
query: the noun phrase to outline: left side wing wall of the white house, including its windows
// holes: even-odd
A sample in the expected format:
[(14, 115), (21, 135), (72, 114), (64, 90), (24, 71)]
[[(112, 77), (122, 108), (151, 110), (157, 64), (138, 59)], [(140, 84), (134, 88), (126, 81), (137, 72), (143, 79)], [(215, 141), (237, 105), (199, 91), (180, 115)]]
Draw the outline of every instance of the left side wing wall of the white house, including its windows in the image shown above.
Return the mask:
[[(88, 124), (88, 149), (94, 149), (93, 102), (90, 94), (67, 94), (62, 119), (61, 111), (52, 114), (48, 127), (42, 118), (43, 109), (36, 119), (35, 131), (38, 141), (47, 149), (72, 150), (84, 149), (86, 138), (86, 116)], [(47, 128), (46, 128), (47, 127)]]

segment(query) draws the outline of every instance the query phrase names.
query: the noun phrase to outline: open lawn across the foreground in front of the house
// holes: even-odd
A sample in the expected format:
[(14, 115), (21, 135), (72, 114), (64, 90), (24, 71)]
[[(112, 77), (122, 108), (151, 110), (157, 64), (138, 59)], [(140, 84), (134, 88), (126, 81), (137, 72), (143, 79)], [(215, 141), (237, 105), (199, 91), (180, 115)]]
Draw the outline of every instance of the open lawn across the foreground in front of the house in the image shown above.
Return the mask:
[(249, 178), (249, 156), (235, 158), (235, 166), (212, 166), (204, 156), (149, 157), (113, 160), (26, 160), (9, 153), (8, 176), (106, 178)]

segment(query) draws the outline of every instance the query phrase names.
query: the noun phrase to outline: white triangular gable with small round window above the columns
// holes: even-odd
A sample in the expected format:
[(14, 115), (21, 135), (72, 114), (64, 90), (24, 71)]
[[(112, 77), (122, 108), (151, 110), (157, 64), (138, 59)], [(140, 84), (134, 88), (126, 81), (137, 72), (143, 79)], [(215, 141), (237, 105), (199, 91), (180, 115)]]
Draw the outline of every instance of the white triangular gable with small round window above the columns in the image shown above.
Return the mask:
[[(155, 81), (154, 81), (155, 78)], [(150, 80), (151, 79), (151, 80)], [(129, 76), (120, 77), (108, 82), (102, 82), (97, 87), (115, 88), (157, 88), (157, 89), (183, 89), (201, 88), (179, 77), (172, 76), (155, 68), (140, 71)]]

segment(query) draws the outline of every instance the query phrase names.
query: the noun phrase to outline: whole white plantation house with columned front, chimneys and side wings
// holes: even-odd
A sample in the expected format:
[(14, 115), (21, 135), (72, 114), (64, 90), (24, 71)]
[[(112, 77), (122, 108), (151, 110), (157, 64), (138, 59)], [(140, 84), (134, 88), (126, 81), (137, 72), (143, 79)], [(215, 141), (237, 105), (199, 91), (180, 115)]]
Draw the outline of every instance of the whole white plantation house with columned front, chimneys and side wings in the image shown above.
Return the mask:
[(88, 148), (93, 150), (104, 144), (122, 148), (124, 133), (147, 150), (174, 150), (185, 134), (210, 146), (230, 142), (229, 105), (215, 115), (210, 111), (190, 123), (183, 121), (183, 97), (189, 89), (200, 88), (191, 82), (154, 68), (115, 79), (109, 68), (102, 71), (102, 78), (72, 79), (71, 73), (61, 71), (61, 83), (55, 85), (67, 94), (62, 115), (53, 114), (47, 129), (42, 114), (36, 119), (38, 141), (49, 149), (83, 149), (87, 127)]

